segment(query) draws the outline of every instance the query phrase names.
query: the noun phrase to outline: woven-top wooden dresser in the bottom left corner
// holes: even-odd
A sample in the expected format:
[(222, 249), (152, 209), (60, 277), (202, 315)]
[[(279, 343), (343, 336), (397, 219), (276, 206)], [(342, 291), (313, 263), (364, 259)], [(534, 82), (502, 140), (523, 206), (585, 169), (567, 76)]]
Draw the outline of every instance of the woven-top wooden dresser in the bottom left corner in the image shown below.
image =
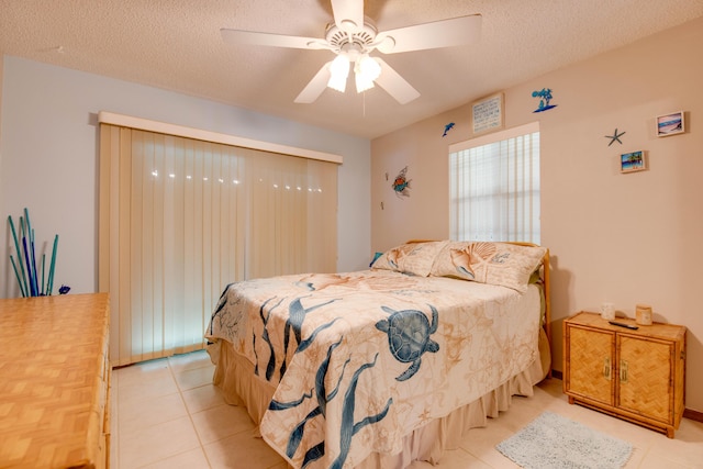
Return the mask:
[(0, 468), (105, 468), (107, 293), (0, 300)]

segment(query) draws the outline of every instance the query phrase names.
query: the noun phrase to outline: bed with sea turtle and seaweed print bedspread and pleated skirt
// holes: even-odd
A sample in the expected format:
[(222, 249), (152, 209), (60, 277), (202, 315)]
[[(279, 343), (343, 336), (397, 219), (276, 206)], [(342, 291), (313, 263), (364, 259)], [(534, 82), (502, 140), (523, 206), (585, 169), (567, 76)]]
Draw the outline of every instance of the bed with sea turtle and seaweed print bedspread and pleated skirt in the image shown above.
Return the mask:
[(228, 284), (213, 382), (292, 467), (439, 461), (550, 371), (549, 252), (409, 242), (368, 270)]

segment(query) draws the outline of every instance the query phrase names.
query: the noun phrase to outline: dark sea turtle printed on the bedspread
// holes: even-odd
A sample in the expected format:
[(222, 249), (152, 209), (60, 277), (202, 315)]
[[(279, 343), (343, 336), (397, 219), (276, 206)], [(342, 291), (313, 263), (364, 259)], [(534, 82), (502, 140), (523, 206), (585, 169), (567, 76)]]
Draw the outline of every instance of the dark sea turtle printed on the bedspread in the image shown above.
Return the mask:
[(381, 306), (390, 316), (388, 320), (377, 322), (376, 328), (388, 334), (388, 348), (393, 357), (402, 364), (411, 364), (395, 378), (398, 381), (405, 381), (417, 372), (422, 354), (436, 353), (439, 349), (439, 344), (429, 337), (437, 332), (438, 313), (433, 305), (428, 304), (428, 306), (432, 310), (432, 324), (422, 311), (395, 311)]

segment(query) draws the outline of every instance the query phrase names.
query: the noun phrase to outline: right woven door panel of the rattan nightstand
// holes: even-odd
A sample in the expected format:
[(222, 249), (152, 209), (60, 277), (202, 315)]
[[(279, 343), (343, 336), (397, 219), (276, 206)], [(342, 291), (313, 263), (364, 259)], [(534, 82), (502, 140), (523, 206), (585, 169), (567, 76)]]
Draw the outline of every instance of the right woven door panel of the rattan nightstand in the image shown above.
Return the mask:
[(618, 335), (617, 350), (617, 406), (671, 424), (673, 343)]

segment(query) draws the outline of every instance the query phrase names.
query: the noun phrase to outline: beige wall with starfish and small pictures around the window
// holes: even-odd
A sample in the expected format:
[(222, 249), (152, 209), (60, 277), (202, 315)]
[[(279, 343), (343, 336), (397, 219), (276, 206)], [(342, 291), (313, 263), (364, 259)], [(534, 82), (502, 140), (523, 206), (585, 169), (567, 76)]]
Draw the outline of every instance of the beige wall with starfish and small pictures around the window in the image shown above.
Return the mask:
[[(703, 19), (502, 91), (506, 127), (540, 122), (555, 368), (565, 317), (605, 301), (633, 316), (635, 303), (650, 303), (656, 320), (689, 327), (687, 407), (703, 412), (700, 51)], [(533, 113), (532, 91), (545, 87), (557, 108)], [(657, 137), (655, 116), (679, 110), (685, 134)], [(448, 237), (447, 146), (471, 137), (469, 113), (467, 104), (371, 143), (372, 249)], [(456, 126), (442, 137), (448, 122)], [(609, 146), (616, 127), (623, 144)], [(638, 149), (649, 170), (620, 174), (620, 154)], [(400, 199), (391, 182), (404, 166), (411, 197)]]

